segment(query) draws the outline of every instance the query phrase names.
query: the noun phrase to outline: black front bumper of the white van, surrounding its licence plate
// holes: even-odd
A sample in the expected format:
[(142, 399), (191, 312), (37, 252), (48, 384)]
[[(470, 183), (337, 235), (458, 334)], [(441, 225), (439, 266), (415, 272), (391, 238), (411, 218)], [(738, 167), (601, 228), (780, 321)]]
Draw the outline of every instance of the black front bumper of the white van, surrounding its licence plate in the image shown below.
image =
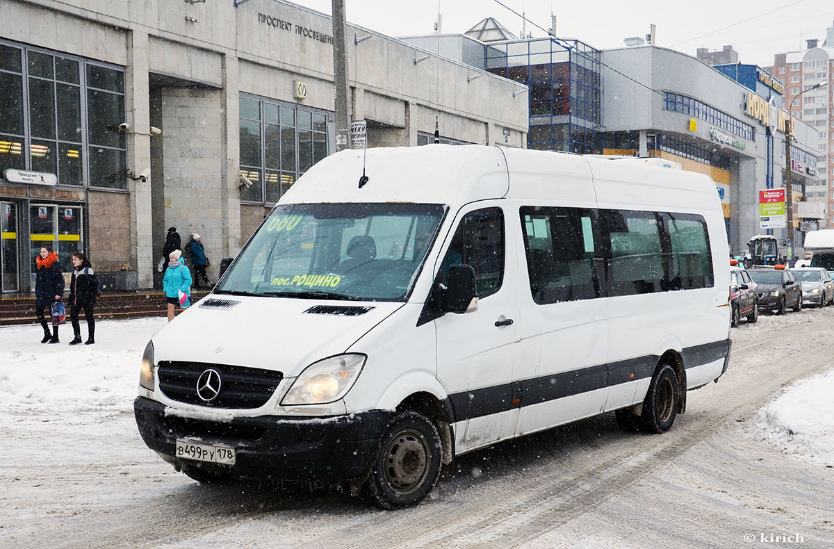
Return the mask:
[(133, 401), (136, 425), (145, 444), (166, 461), (174, 457), (177, 439), (231, 446), (234, 466), (184, 461), (208, 471), (281, 481), (349, 481), (369, 471), (382, 431), (392, 411), (370, 410), (347, 416), (235, 417), (208, 421), (165, 413), (166, 406), (138, 396)]

